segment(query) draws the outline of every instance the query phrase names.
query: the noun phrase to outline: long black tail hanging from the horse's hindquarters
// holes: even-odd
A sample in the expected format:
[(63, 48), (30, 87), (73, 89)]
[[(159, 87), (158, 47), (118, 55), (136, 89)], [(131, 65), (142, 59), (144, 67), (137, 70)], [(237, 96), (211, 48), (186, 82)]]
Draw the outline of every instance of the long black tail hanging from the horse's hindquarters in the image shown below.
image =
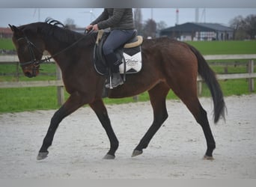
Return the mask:
[(201, 53), (198, 52), (198, 50), (193, 46), (189, 45), (189, 48), (198, 58), (198, 73), (204, 82), (206, 82), (208, 88), (210, 89), (210, 93), (213, 96), (214, 123), (217, 123), (220, 117), (225, 120), (225, 101), (223, 98), (222, 89), (220, 88), (219, 82), (216, 79), (216, 75), (213, 70), (210, 69)]

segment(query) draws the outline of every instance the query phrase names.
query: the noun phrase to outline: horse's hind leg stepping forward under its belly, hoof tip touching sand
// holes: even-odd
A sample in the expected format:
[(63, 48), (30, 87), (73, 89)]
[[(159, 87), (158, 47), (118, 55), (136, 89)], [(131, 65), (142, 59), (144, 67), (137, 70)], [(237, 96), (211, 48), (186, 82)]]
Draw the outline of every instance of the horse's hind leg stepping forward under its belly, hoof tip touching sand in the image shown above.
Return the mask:
[(168, 94), (169, 88), (165, 83), (159, 83), (150, 91), (150, 102), (153, 107), (153, 123), (150, 126), (150, 129), (147, 130), (146, 134), (138, 146), (133, 150), (132, 156), (138, 156), (142, 153), (142, 150), (147, 147), (153, 135), (156, 134), (157, 130), (160, 128), (162, 123), (167, 119), (168, 113), (166, 110), (165, 99)]

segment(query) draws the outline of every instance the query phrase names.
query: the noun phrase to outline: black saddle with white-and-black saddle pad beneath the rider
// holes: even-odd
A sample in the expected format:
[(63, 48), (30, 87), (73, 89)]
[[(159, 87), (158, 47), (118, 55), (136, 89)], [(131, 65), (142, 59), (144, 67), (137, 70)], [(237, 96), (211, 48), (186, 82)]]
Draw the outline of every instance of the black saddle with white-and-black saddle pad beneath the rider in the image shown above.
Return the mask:
[[(106, 65), (106, 60), (103, 55), (103, 43), (109, 36), (109, 31), (98, 31), (97, 40), (94, 46), (94, 68), (100, 75), (108, 75), (109, 67)], [(132, 38), (115, 50), (118, 60), (122, 62), (119, 66), (121, 74), (138, 73), (141, 70), (141, 43), (143, 39), (134, 31)]]

